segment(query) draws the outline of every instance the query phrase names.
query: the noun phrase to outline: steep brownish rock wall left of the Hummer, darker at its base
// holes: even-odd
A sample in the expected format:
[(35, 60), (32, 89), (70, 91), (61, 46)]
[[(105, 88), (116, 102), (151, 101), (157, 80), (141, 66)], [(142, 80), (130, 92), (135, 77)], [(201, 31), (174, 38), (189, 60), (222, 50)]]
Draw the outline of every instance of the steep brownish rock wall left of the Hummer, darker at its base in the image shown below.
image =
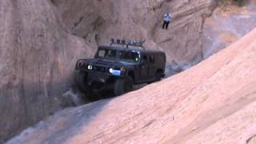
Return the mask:
[(0, 142), (66, 105), (74, 64), (92, 51), (50, 1), (0, 2)]

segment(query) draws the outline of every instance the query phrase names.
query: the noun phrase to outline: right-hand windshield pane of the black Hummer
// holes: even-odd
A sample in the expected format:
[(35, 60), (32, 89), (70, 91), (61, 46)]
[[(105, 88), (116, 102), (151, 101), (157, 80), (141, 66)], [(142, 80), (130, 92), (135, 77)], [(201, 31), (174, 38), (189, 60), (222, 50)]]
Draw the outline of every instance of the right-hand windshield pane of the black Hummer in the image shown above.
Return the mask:
[(124, 62), (138, 62), (139, 54), (134, 51), (120, 51), (119, 58)]

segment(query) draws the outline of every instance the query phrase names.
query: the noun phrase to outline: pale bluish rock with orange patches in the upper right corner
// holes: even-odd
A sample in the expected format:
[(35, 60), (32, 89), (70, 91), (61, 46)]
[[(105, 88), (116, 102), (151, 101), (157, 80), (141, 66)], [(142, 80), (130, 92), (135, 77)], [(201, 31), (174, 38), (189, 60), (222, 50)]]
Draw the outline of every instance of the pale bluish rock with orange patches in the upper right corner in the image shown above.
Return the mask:
[(247, 0), (244, 6), (225, 1), (211, 17), (206, 18), (203, 28), (203, 57), (208, 58), (230, 46), (256, 27), (256, 2)]

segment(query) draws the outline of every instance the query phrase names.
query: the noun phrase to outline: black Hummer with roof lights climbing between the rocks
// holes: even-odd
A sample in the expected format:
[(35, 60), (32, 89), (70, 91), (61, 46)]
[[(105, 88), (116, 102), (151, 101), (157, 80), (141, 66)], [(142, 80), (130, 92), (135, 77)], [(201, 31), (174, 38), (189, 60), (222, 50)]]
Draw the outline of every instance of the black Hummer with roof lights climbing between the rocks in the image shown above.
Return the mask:
[(120, 95), (132, 90), (134, 84), (161, 80), (165, 76), (166, 54), (145, 50), (142, 44), (111, 39), (110, 46), (98, 47), (94, 58), (78, 60), (78, 89), (93, 100), (101, 90), (114, 90), (115, 95)]

